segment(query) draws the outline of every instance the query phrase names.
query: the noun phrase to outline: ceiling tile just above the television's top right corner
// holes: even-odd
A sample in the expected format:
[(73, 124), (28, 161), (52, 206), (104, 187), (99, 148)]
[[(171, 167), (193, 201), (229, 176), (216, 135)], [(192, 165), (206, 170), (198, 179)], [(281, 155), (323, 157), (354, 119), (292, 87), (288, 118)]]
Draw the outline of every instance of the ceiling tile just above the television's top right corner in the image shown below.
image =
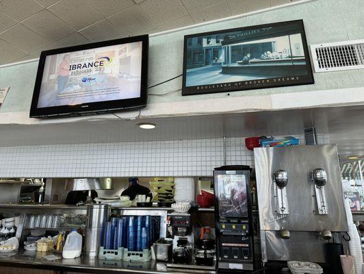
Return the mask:
[(153, 22), (144, 14), (138, 5), (118, 12), (107, 18), (121, 33), (129, 29), (132, 33), (147, 34), (151, 29), (155, 29)]

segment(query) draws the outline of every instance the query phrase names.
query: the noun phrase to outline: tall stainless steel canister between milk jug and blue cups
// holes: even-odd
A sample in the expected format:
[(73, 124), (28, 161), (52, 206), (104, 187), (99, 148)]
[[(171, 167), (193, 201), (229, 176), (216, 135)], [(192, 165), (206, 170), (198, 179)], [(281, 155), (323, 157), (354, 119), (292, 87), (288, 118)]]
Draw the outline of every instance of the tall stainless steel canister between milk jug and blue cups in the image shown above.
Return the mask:
[(103, 236), (103, 227), (107, 221), (109, 206), (89, 204), (87, 206), (88, 223), (86, 227), (85, 251), (88, 256), (97, 256)]

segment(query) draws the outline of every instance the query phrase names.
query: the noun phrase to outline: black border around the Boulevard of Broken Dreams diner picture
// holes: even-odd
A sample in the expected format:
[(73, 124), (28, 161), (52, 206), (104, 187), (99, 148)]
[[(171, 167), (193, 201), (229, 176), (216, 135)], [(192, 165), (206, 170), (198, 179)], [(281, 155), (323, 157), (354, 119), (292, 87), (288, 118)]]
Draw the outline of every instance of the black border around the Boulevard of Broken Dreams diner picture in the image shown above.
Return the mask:
[[(231, 87), (229, 89), (220, 89), (220, 90), (209, 90), (205, 89), (203, 92), (197, 92), (196, 86), (186, 86), (186, 66), (187, 66), (187, 40), (188, 38), (195, 38), (200, 36), (209, 36), (214, 34), (224, 34), (226, 32), (237, 32), (237, 31), (246, 31), (250, 29), (259, 29), (261, 27), (274, 27), (279, 25), (287, 25), (289, 23), (299, 23), (300, 24), (300, 34), (302, 36), (302, 44), (303, 44), (303, 50), (304, 50), (304, 56), (306, 60), (306, 66), (307, 66), (307, 81), (304, 82), (296, 82), (296, 83), (289, 83), (289, 84), (274, 84), (270, 86), (251, 86), (248, 88), (241, 88), (241, 87)], [(287, 75), (289, 77), (289, 75)], [(244, 81), (242, 81), (244, 82)], [(217, 84), (224, 84), (224, 83), (216, 83)], [(188, 96), (188, 95), (205, 95), (205, 94), (211, 94), (211, 93), (220, 93), (220, 92), (233, 92), (233, 91), (245, 91), (245, 90), (256, 90), (261, 88), (280, 88), (285, 86), (300, 86), (300, 85), (308, 85), (308, 84), (315, 84), (315, 80), (313, 79), (313, 71), (311, 66), (311, 59), (309, 55), (309, 49), (307, 45), (307, 38), (306, 33), (304, 32), (304, 24), (303, 20), (292, 20), (292, 21), (283, 21), (283, 22), (277, 22), (277, 23), (266, 23), (261, 25), (252, 25), (248, 27), (235, 27), (232, 29), (221, 29), (213, 32), (202, 32), (199, 34), (189, 34), (185, 35), (184, 37), (184, 43), (183, 43), (183, 79), (182, 79), (182, 96)], [(211, 84), (212, 85), (212, 84)], [(199, 85), (199, 86), (209, 86), (209, 85)]]

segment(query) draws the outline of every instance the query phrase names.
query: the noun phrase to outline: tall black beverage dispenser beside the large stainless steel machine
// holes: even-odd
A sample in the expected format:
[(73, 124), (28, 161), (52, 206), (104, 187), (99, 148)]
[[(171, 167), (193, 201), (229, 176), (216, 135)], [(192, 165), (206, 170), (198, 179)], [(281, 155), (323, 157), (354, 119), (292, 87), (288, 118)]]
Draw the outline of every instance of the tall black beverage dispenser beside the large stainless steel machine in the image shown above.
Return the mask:
[(218, 271), (254, 269), (249, 178), (249, 166), (221, 166), (213, 171)]

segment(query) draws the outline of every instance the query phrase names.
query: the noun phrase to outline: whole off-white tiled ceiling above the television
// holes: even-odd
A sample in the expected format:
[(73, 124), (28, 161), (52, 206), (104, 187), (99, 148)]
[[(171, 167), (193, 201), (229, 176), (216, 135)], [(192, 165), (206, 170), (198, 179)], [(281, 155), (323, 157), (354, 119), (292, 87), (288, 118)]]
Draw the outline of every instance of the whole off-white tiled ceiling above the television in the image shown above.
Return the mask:
[(298, 0), (0, 0), (0, 65)]

